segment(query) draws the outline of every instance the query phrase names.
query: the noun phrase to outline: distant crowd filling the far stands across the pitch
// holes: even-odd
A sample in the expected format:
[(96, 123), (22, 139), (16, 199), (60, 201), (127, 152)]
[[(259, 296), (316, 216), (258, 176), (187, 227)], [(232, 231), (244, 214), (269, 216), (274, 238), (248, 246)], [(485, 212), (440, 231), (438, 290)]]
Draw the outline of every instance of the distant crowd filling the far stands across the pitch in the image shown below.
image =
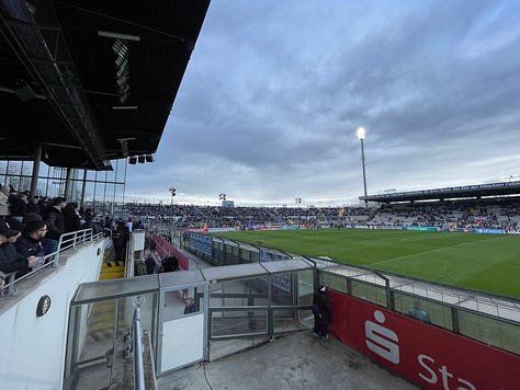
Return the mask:
[(411, 226), (441, 229), (520, 229), (520, 198), (388, 204), (373, 207), (215, 207), (126, 204), (147, 226), (179, 229), (304, 225), (306, 227)]

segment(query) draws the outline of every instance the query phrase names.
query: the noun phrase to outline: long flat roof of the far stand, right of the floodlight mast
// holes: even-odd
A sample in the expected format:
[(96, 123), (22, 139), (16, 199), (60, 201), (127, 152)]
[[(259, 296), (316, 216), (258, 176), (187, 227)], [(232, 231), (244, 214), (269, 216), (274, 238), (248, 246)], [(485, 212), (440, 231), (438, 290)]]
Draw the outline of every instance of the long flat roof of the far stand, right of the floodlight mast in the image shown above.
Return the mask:
[(360, 200), (395, 203), (415, 200), (444, 200), (457, 198), (482, 198), (486, 196), (506, 196), (520, 194), (520, 182), (489, 183), (445, 187), (434, 190), (410, 191), (402, 193), (360, 196)]

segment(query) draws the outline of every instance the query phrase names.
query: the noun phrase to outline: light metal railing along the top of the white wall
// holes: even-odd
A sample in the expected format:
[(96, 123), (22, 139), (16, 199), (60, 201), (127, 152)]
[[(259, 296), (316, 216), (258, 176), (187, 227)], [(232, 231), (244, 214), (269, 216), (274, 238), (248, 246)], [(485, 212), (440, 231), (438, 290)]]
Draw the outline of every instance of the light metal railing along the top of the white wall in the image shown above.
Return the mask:
[(26, 273), (25, 275), (22, 275), (21, 277), (16, 277), (18, 272), (12, 272), (5, 275), (5, 285), (3, 288), (0, 290), (0, 296), (10, 296), (14, 295), (16, 292), (15, 289), (15, 284), (20, 283), (26, 278), (30, 278), (34, 276), (37, 273), (41, 273), (43, 269), (47, 268), (57, 268), (59, 264), (59, 253), (70, 250), (70, 249), (76, 249), (79, 245), (82, 245), (87, 242), (92, 242), (98, 240), (99, 238), (103, 237), (103, 233), (92, 233), (92, 229), (83, 229), (83, 230), (77, 230), (77, 231), (71, 231), (68, 233), (64, 233), (59, 237), (58, 240), (58, 249), (55, 252), (48, 253), (43, 256), (43, 264), (34, 271), (31, 271), (30, 273)]

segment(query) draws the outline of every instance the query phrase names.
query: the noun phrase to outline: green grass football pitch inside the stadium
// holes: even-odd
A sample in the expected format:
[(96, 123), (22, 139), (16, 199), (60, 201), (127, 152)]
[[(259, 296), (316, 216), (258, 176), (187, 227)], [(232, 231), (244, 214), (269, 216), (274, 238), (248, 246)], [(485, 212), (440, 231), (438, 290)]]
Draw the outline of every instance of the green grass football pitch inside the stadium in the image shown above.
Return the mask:
[(368, 229), (236, 231), (215, 234), (328, 256), (399, 275), (520, 298), (520, 236)]

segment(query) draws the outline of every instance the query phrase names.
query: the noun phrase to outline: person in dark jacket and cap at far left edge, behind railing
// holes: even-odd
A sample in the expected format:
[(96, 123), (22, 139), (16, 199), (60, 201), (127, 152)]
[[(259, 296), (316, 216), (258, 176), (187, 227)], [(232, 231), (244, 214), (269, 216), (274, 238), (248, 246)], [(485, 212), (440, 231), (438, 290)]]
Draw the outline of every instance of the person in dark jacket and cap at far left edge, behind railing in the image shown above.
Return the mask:
[(24, 273), (37, 263), (35, 256), (24, 256), (16, 252), (14, 242), (16, 242), (19, 237), (19, 230), (9, 228), (3, 220), (0, 221), (0, 271), (5, 274), (13, 272)]

